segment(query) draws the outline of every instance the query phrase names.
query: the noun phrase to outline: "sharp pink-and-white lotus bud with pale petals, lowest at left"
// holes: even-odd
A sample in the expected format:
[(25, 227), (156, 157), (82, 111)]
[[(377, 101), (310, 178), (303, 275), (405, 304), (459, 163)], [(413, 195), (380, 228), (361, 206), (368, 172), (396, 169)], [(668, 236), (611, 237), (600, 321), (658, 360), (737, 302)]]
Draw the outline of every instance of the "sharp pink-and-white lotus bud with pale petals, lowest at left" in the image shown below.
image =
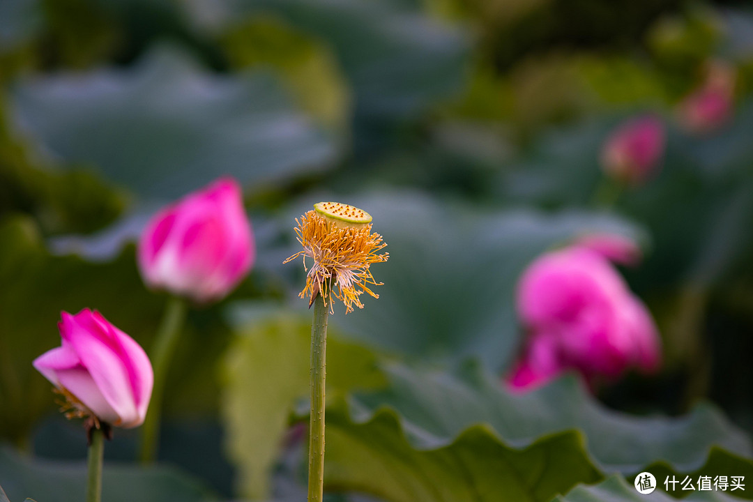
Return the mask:
[(62, 312), (62, 344), (34, 367), (69, 400), (78, 415), (119, 427), (144, 422), (154, 373), (145, 351), (99, 312)]

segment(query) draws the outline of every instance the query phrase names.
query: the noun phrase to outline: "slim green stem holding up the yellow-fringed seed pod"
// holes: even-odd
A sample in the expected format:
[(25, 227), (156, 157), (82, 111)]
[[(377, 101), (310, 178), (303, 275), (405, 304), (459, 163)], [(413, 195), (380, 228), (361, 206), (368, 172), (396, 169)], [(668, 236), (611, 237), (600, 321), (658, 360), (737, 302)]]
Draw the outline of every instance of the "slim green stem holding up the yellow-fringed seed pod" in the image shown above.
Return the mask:
[(322, 502), (325, 482), (325, 379), (327, 315), (322, 294), (314, 300), (311, 327), (311, 415), (309, 418), (309, 502)]

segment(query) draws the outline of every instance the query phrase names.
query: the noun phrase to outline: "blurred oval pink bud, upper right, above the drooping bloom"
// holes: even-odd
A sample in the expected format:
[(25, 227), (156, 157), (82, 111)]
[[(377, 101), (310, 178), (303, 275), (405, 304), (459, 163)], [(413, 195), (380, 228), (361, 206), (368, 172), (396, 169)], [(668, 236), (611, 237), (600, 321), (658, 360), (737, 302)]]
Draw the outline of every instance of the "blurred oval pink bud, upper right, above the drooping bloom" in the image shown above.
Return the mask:
[(664, 126), (652, 115), (620, 125), (602, 150), (602, 167), (627, 184), (642, 184), (660, 167), (664, 154)]

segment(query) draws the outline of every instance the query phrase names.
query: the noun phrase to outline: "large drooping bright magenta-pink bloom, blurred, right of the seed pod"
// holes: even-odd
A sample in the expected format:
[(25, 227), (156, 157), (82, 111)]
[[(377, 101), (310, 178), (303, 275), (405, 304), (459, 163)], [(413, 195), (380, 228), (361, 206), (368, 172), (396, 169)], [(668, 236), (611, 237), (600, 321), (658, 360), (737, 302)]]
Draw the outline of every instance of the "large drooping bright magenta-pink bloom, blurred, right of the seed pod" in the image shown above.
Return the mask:
[[(659, 365), (651, 315), (614, 266), (590, 249), (575, 245), (535, 260), (518, 285), (517, 311), (528, 332), (510, 379), (519, 388), (569, 368), (593, 380), (615, 379), (630, 367), (650, 372)], [(521, 376), (523, 371), (528, 373)], [(530, 373), (535, 378), (526, 376)]]

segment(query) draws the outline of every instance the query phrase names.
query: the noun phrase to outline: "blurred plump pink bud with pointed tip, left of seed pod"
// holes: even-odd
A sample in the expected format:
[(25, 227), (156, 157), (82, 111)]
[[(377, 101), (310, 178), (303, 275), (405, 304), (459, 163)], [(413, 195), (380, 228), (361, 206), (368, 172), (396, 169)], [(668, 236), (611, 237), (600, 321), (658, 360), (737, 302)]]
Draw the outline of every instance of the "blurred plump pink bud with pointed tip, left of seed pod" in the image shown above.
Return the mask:
[(232, 178), (163, 208), (139, 240), (145, 282), (199, 302), (225, 297), (251, 269), (254, 258), (251, 222)]

